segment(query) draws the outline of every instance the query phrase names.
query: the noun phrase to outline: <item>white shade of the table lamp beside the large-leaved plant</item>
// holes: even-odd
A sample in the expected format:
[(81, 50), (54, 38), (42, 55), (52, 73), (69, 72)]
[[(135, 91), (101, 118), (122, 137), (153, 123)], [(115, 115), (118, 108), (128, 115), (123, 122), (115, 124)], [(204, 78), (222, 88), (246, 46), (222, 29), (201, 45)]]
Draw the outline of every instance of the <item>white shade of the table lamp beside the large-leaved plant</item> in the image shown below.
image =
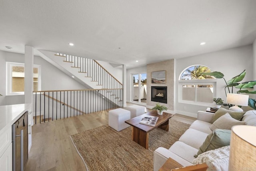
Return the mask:
[(248, 99), (249, 95), (227, 93), (226, 102), (232, 105), (248, 106)]

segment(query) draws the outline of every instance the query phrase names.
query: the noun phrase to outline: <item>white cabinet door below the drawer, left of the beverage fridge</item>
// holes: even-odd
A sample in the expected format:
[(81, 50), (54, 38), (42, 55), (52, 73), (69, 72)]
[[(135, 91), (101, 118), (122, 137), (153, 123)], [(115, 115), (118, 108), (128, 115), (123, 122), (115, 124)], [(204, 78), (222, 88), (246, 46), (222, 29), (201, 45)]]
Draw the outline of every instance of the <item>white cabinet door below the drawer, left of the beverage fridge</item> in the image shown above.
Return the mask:
[(12, 143), (0, 157), (0, 171), (12, 171)]

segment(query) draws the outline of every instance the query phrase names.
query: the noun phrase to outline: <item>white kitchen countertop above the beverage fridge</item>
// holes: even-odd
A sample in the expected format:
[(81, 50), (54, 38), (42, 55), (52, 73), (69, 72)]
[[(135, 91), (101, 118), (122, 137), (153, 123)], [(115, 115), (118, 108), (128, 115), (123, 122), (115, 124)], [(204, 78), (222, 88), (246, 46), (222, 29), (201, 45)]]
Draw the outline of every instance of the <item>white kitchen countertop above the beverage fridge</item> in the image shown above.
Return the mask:
[(22, 114), (29, 111), (31, 104), (3, 105), (0, 106), (0, 134), (17, 121)]

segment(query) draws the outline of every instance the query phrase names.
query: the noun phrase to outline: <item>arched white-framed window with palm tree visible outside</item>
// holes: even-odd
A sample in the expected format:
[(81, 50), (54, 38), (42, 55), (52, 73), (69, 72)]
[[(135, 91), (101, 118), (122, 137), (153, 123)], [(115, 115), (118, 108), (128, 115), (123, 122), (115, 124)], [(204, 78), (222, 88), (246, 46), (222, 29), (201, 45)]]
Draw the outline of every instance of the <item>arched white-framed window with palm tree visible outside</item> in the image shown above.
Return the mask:
[(210, 68), (194, 65), (182, 71), (179, 78), (179, 102), (210, 105), (216, 94), (216, 79), (202, 73), (212, 72)]

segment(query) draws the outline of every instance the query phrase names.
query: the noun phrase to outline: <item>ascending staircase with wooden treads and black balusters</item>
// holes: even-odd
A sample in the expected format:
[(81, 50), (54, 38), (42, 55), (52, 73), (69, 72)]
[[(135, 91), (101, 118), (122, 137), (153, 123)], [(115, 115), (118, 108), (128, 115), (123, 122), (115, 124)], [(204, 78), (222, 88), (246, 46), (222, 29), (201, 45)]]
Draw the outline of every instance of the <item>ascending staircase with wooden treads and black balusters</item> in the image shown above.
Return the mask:
[(45, 50), (39, 50), (39, 52), (44, 60), (90, 89), (111, 89), (107, 91), (108, 93), (105, 97), (107, 99), (115, 99), (114, 101), (111, 100), (113, 103), (119, 104), (119, 101), (122, 101), (122, 94), (119, 93), (121, 91), (118, 91), (118, 89), (122, 89), (122, 83), (96, 60)]

